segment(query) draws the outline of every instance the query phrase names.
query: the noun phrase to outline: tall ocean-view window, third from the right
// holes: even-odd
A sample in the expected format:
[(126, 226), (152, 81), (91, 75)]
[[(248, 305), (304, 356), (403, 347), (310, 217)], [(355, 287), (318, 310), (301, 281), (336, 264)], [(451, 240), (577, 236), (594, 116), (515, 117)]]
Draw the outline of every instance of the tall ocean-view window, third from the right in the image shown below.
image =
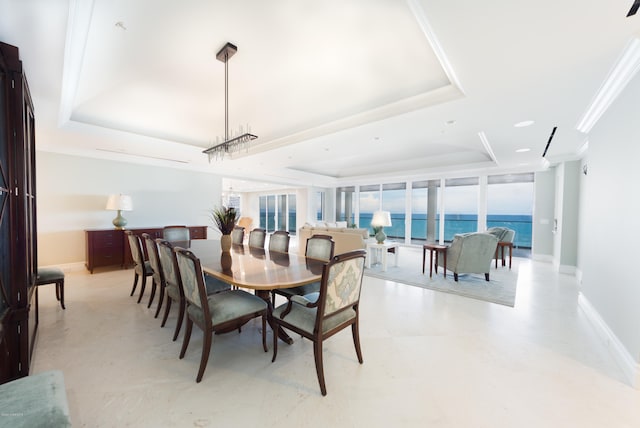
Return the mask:
[[(411, 184), (411, 240), (436, 242), (440, 237), (440, 180)], [(418, 242), (419, 243), (419, 242)]]

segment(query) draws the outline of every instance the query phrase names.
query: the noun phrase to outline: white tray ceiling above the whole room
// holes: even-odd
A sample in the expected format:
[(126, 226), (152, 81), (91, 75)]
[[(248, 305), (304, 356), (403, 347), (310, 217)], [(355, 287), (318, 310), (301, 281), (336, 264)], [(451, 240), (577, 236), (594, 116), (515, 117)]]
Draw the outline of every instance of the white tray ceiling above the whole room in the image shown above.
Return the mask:
[[(577, 124), (640, 34), (632, 3), (0, 0), (0, 41), (20, 48), (39, 150), (235, 190), (336, 186), (578, 158)], [(258, 139), (209, 163), (227, 42), (229, 126)]]

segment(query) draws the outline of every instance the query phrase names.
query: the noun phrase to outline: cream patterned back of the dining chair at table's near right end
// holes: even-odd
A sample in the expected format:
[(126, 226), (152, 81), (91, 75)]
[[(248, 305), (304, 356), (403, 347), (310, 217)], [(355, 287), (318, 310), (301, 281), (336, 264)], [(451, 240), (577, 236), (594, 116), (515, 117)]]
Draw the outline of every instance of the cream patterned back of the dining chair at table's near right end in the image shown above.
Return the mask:
[(366, 254), (364, 250), (349, 251), (333, 257), (325, 265), (318, 297), (316, 331), (322, 331), (322, 319), (348, 309), (357, 312)]

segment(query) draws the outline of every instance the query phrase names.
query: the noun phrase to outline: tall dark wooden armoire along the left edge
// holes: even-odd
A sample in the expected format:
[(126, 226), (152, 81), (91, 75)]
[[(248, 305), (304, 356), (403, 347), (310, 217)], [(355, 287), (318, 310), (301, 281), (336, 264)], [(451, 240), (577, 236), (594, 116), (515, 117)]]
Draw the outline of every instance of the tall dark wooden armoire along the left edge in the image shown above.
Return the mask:
[(36, 337), (34, 133), (18, 48), (0, 43), (0, 383), (29, 374)]

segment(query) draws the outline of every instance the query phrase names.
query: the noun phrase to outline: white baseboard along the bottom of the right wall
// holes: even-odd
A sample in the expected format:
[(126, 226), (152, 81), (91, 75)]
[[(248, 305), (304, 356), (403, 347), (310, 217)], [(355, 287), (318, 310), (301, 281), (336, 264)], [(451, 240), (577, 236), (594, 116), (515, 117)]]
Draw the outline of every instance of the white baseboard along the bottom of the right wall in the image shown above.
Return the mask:
[(622, 369), (629, 384), (636, 389), (640, 389), (640, 364), (633, 359), (629, 351), (627, 351), (627, 348), (620, 342), (598, 311), (591, 305), (589, 299), (582, 293), (578, 294), (578, 306), (584, 311), (589, 321), (591, 321), (595, 327), (596, 333), (607, 346), (609, 353), (613, 356), (618, 366)]

